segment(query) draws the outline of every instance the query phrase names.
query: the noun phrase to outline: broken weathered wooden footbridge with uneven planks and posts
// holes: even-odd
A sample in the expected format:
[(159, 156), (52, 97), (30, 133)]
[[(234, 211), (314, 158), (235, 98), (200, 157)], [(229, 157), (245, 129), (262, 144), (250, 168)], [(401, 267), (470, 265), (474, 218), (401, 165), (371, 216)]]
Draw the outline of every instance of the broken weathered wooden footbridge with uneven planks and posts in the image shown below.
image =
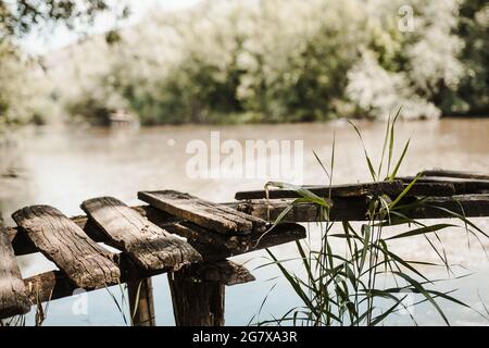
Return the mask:
[[(363, 221), (369, 197), (396, 198), (412, 179), (304, 187), (329, 197), (330, 221)], [(321, 217), (316, 204), (304, 203), (269, 229), (269, 222), (300, 196), (286, 189), (266, 194), (237, 192), (235, 202), (213, 203), (174, 190), (140, 191), (147, 206), (93, 198), (80, 206), (85, 216), (71, 219), (49, 206), (23, 208), (12, 215), (16, 227), (0, 220), (0, 318), (24, 314), (77, 288), (126, 283), (133, 324), (155, 325), (151, 276), (168, 273), (177, 325), (224, 325), (225, 286), (254, 279), (228, 258), (304, 238), (305, 228), (298, 223)], [(402, 198), (419, 199), (426, 203), (408, 211), (410, 217), (453, 217), (450, 212), (488, 216), (489, 175), (425, 171)], [(34, 252), (59, 271), (23, 279), (16, 256)]]

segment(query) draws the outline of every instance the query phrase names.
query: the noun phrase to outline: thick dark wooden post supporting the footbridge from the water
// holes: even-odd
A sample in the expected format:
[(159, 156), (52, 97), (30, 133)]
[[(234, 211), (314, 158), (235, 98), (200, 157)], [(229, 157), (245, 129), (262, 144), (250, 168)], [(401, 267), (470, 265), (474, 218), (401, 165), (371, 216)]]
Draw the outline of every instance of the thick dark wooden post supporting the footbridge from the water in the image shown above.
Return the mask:
[(225, 284), (202, 281), (185, 269), (168, 273), (177, 326), (224, 326)]

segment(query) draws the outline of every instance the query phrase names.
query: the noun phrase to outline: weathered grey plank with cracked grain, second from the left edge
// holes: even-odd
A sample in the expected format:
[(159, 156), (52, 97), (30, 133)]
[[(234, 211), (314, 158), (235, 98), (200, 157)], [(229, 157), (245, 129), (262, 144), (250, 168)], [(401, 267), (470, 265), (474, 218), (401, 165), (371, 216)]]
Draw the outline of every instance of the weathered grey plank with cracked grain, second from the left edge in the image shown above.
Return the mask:
[(33, 206), (12, 214), (36, 248), (78, 287), (96, 288), (121, 277), (114, 254), (91, 240), (73, 221), (49, 206)]

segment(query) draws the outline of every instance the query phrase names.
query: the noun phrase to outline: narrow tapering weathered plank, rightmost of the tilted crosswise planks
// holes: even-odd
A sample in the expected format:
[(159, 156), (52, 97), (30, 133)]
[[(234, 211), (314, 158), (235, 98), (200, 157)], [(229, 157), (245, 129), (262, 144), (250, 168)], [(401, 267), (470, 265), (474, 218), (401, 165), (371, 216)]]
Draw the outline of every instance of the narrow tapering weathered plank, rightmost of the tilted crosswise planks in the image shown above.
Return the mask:
[(266, 222), (261, 219), (188, 194), (174, 190), (141, 191), (138, 192), (138, 198), (172, 215), (222, 234), (247, 234), (266, 229)]

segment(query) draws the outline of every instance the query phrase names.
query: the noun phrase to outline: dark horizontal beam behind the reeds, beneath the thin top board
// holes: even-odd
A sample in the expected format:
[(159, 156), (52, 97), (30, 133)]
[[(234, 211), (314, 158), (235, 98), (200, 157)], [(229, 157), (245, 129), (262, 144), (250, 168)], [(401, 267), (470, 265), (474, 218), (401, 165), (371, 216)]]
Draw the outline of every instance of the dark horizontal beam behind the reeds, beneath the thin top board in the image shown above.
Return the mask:
[[(412, 202), (415, 198), (406, 200)], [(273, 221), (292, 203), (292, 199), (265, 199), (242, 201), (237, 209), (262, 219)], [(464, 214), (466, 217), (489, 216), (489, 195), (461, 195), (453, 197), (431, 197), (425, 200), (423, 208), (405, 212), (411, 219), (442, 219), (453, 217), (441, 207), (452, 212)], [(330, 221), (364, 221), (367, 220), (368, 202), (366, 200), (337, 198), (333, 200), (329, 212)], [(296, 206), (283, 220), (284, 222), (316, 222), (322, 221), (321, 209), (313, 203)]]

